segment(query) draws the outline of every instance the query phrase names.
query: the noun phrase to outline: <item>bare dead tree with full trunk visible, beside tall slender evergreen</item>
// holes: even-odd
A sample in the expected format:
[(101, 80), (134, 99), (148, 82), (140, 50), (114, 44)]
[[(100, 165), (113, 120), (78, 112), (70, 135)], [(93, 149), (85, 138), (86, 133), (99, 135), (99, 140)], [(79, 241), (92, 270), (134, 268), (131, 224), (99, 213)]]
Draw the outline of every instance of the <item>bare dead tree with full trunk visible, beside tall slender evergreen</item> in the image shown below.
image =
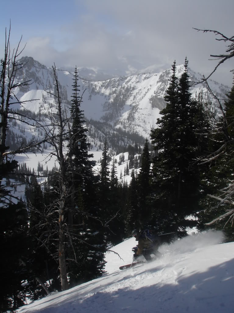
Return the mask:
[[(53, 95), (56, 99), (56, 107), (54, 112), (48, 112), (49, 122), (47, 122), (46, 125), (41, 125), (40, 127), (43, 128), (43, 131), (45, 132), (44, 140), (53, 147), (53, 151), (50, 153), (51, 157), (55, 158), (55, 160), (59, 163), (59, 169), (56, 171), (55, 182), (53, 184), (53, 188), (56, 192), (56, 200), (47, 208), (47, 213), (49, 215), (58, 213), (57, 222), (54, 223), (51, 221), (50, 228), (57, 229), (58, 253), (55, 257), (58, 258), (59, 261), (61, 287), (62, 290), (66, 290), (69, 288), (69, 285), (67, 280), (66, 267), (66, 260), (68, 260), (68, 258), (66, 257), (65, 244), (66, 242), (71, 244), (74, 252), (74, 259), (72, 259), (72, 261), (77, 263), (76, 252), (73, 248), (73, 240), (83, 241), (82, 239), (77, 238), (76, 234), (73, 234), (71, 227), (72, 221), (69, 221), (68, 227), (67, 221), (65, 221), (64, 217), (65, 212), (68, 214), (69, 219), (71, 219), (72, 216), (72, 214), (70, 214), (69, 208), (67, 208), (67, 200), (68, 198), (69, 201), (71, 200), (72, 203), (69, 207), (72, 208), (72, 205), (74, 205), (75, 192), (74, 173), (79, 171), (78, 169), (72, 167), (72, 136), (74, 136), (71, 129), (72, 117), (70, 115), (70, 110), (68, 110), (66, 105), (61, 101), (55, 64), (52, 66), (52, 70), (56, 92), (55, 94), (51, 93), (51, 95)], [(81, 101), (82, 96), (80, 97), (80, 102)], [(79, 140), (81, 139), (82, 138)], [(48, 231), (51, 232), (51, 229)]]

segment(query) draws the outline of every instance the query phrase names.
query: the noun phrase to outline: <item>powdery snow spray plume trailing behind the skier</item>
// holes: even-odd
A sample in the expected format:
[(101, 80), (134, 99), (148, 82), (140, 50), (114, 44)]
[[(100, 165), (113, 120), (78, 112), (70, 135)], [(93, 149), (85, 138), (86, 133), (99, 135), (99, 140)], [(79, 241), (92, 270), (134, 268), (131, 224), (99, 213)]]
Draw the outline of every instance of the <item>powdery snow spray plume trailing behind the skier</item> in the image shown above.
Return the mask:
[(173, 244), (162, 245), (159, 251), (168, 256), (172, 254), (188, 253), (199, 248), (220, 244), (223, 242), (223, 239), (224, 234), (222, 231), (208, 230), (176, 240)]

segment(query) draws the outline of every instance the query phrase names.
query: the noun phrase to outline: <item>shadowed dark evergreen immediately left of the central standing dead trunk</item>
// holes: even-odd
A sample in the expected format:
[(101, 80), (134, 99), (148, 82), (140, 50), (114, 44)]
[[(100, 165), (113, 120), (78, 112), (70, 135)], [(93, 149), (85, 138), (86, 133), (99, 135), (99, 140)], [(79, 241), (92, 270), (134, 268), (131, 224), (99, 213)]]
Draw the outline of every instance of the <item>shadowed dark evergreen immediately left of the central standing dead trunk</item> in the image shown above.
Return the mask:
[[(46, 284), (50, 282), (49, 291), (61, 290), (59, 275), (57, 272), (58, 263), (53, 258), (56, 249), (53, 240), (56, 240), (54, 225), (48, 223), (49, 220), (56, 220), (56, 213), (50, 212), (47, 216), (46, 201), (37, 179), (32, 177), (32, 185), (26, 189), (27, 207), (29, 215), (30, 253), (25, 261), (27, 270), (27, 293), (31, 300), (37, 300), (46, 295), (45, 290), (38, 284), (36, 277)], [(46, 187), (47, 188), (47, 187)], [(46, 189), (45, 188), (45, 189)], [(49, 203), (53, 202), (53, 197), (49, 197)], [(50, 233), (50, 240), (48, 234)], [(42, 244), (44, 242), (45, 244)], [(49, 252), (50, 251), (50, 252)]]

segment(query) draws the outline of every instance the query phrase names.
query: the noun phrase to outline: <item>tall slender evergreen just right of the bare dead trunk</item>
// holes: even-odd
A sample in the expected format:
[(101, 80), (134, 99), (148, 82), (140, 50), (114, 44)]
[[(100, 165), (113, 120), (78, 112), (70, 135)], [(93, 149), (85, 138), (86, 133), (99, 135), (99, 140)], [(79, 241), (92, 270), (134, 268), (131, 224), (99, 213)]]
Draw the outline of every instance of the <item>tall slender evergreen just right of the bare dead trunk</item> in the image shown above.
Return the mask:
[[(87, 131), (83, 111), (80, 110), (81, 98), (77, 68), (73, 78), (73, 94), (71, 99), (71, 156), (68, 170), (72, 173), (71, 201), (67, 202), (68, 222), (71, 235), (68, 242), (68, 255), (74, 261), (68, 263), (70, 285), (80, 281), (96, 278), (104, 273), (105, 241), (101, 218), (98, 210), (98, 198), (95, 186), (97, 177), (94, 176), (92, 167), (95, 165), (88, 153), (90, 143), (87, 142)], [(95, 220), (94, 218), (97, 218)], [(76, 226), (74, 226), (76, 225)], [(91, 246), (90, 246), (91, 245)], [(94, 249), (94, 246), (96, 248)]]

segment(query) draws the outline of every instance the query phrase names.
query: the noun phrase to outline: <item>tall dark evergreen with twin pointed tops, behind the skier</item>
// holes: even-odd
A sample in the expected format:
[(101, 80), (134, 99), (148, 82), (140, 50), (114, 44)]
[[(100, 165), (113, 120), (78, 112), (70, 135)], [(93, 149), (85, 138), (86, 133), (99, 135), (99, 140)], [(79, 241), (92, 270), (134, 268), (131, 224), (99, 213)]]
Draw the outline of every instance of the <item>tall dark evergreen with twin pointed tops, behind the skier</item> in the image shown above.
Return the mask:
[(179, 82), (175, 62), (165, 100), (168, 102), (158, 119), (158, 128), (151, 133), (158, 151), (153, 161), (154, 200), (153, 221), (161, 230), (176, 230), (186, 234), (194, 222), (186, 219), (195, 214), (200, 199), (200, 173), (194, 160), (199, 155), (195, 129), (197, 101), (189, 92), (188, 60)]

